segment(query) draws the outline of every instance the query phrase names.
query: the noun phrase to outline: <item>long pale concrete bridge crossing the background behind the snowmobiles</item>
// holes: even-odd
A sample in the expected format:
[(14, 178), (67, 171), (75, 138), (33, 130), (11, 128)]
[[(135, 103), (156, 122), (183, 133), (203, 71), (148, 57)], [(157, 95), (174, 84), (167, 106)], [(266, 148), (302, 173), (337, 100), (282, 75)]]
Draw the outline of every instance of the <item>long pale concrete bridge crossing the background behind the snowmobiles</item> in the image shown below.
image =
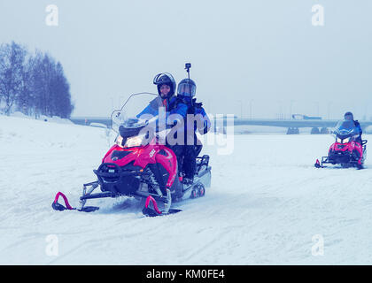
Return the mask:
[[(74, 124), (94, 126), (91, 123), (104, 124), (111, 126), (109, 117), (72, 117)], [(223, 122), (221, 121), (223, 120)], [(287, 128), (287, 134), (298, 134), (298, 128), (309, 127), (311, 134), (329, 134), (329, 128), (336, 126), (338, 120), (330, 119), (238, 119), (234, 118), (234, 126), (281, 126)], [(214, 125), (226, 126), (226, 117), (216, 119)], [(372, 126), (372, 121), (360, 121), (360, 126), (364, 130), (367, 126)], [(215, 128), (216, 130), (216, 128)], [(225, 132), (225, 131), (224, 131)]]

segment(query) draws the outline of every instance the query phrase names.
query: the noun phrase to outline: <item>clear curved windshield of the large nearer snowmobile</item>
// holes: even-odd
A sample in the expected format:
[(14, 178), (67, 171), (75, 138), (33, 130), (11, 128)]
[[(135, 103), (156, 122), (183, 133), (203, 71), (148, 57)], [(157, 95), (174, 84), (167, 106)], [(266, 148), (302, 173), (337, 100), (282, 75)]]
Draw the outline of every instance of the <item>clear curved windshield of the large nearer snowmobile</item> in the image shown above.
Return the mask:
[(136, 129), (148, 125), (157, 109), (162, 105), (159, 95), (138, 93), (128, 97), (120, 110), (112, 111), (111, 127), (119, 134), (119, 127)]

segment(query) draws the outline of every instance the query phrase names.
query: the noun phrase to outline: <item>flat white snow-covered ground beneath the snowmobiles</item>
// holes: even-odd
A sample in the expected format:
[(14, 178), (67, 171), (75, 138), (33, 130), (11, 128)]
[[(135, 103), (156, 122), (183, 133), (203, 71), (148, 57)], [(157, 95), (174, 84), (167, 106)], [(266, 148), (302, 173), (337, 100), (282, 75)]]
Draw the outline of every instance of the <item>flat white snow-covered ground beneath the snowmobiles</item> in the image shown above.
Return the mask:
[(131, 198), (61, 212), (58, 191), (76, 206), (95, 180), (105, 129), (0, 116), (0, 264), (372, 264), (371, 162), (315, 169), (331, 142), (236, 135), (228, 156), (205, 146), (212, 187), (167, 217), (143, 218)]

